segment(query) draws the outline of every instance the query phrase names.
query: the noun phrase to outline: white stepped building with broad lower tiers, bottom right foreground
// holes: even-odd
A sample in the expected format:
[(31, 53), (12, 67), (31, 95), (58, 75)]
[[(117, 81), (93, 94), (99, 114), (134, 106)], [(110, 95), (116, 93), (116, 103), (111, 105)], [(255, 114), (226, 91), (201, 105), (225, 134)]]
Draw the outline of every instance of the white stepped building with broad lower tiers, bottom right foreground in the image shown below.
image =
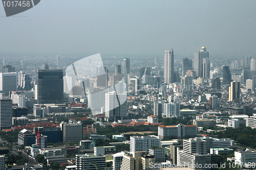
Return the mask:
[(210, 155), (207, 154), (207, 142), (196, 138), (183, 140), (183, 150), (177, 148), (177, 164), (193, 169), (210, 169)]

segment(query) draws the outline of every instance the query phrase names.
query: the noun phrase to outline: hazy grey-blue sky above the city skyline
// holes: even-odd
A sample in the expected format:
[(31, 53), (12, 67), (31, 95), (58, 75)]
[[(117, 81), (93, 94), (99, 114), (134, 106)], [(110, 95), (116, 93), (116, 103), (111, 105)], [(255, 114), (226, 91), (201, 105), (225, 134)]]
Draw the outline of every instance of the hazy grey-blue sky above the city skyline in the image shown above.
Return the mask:
[(41, 0), (0, 16), (0, 53), (256, 57), (256, 1)]

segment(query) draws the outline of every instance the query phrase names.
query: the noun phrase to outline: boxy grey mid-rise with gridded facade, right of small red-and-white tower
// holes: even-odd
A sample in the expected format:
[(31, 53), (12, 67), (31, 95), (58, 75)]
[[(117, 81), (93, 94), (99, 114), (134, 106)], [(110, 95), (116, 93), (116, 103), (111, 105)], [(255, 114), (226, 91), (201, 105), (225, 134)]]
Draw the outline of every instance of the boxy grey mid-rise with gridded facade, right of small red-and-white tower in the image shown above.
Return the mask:
[(74, 124), (61, 122), (60, 130), (62, 131), (62, 142), (80, 142), (82, 140), (82, 123), (78, 121)]

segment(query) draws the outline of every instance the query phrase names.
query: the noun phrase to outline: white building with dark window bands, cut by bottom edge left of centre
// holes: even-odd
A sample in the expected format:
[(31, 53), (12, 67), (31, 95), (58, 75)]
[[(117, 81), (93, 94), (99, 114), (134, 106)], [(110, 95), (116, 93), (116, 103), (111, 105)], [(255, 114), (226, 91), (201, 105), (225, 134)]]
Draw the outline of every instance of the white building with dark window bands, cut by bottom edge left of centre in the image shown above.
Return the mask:
[(105, 170), (105, 156), (76, 155), (76, 170)]

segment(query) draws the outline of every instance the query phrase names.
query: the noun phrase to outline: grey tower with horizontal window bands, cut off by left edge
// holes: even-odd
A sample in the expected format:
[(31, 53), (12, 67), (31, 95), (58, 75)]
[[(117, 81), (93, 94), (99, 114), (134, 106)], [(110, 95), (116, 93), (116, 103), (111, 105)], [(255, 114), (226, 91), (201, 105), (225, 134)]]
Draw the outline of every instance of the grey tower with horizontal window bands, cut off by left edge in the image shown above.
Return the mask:
[(12, 100), (0, 99), (0, 130), (12, 128)]

